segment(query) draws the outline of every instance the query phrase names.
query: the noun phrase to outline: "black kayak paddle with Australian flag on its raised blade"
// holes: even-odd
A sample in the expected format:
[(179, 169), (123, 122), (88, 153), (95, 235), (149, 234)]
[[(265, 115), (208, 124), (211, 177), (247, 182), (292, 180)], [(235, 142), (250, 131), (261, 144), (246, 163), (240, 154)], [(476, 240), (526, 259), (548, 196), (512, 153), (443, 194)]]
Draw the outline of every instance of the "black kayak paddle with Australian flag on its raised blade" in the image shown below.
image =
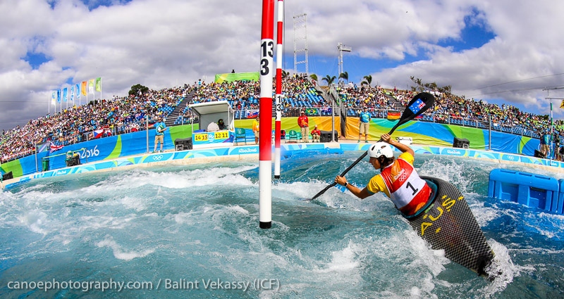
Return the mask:
[[(393, 128), (391, 129), (390, 132), (388, 132), (388, 134), (391, 135), (394, 131), (396, 131), (396, 129), (400, 125), (405, 124), (405, 122), (408, 122), (414, 119), (415, 117), (417, 117), (417, 115), (420, 115), (421, 113), (427, 111), (427, 109), (432, 107), (434, 103), (435, 103), (435, 97), (432, 94), (429, 94), (428, 92), (422, 92), (414, 96), (411, 99), (411, 101), (407, 103), (407, 108), (405, 108), (405, 110), (403, 111), (403, 114), (400, 117), (400, 121), (395, 126), (393, 126)], [(355, 163), (350, 165), (343, 173), (341, 173), (341, 177), (347, 174), (349, 170), (353, 169), (353, 167), (355, 167), (355, 165), (357, 165), (360, 162), (360, 160), (366, 157), (367, 154), (368, 151), (365, 151), (362, 155), (360, 155), (360, 157), (355, 161)], [(321, 196), (321, 194), (325, 193), (325, 191), (329, 190), (332, 186), (335, 186), (336, 184), (337, 184), (336, 182), (333, 182), (329, 186), (326, 186), (325, 189), (315, 194), (314, 197), (306, 199), (306, 201), (312, 201), (315, 198), (318, 198), (319, 196)]]

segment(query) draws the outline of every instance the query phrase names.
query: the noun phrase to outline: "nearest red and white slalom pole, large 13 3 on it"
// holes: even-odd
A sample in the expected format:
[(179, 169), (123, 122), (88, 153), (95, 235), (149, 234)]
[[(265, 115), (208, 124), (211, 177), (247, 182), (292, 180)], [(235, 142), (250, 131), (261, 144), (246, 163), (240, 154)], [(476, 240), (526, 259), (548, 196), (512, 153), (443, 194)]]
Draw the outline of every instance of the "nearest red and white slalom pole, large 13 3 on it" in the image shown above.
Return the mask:
[(272, 75), (274, 0), (262, 0), (259, 99), (259, 227), (272, 226)]

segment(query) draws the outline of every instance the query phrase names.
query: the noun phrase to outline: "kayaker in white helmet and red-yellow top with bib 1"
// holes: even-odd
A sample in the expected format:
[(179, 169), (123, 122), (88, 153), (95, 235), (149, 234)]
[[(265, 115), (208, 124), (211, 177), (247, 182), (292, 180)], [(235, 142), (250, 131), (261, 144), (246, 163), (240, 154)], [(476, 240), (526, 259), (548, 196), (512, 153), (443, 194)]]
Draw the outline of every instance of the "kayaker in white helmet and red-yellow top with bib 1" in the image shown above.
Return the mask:
[[(384, 192), (404, 217), (417, 215), (432, 200), (434, 192), (413, 167), (413, 150), (392, 140), (389, 134), (382, 135), (381, 139), (384, 142), (376, 142), (368, 149), (369, 163), (380, 173), (372, 177), (364, 189), (349, 184), (341, 176), (337, 176), (335, 182), (360, 199)], [(402, 152), (397, 160), (393, 157), (391, 145)]]

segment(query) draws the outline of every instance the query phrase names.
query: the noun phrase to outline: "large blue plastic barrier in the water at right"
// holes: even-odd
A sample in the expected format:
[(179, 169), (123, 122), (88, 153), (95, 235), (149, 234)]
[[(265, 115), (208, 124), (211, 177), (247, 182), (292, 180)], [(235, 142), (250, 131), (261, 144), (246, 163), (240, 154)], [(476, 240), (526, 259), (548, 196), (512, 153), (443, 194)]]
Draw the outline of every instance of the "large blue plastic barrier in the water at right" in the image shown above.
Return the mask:
[(489, 173), (488, 196), (563, 214), (564, 180), (529, 172), (494, 169)]

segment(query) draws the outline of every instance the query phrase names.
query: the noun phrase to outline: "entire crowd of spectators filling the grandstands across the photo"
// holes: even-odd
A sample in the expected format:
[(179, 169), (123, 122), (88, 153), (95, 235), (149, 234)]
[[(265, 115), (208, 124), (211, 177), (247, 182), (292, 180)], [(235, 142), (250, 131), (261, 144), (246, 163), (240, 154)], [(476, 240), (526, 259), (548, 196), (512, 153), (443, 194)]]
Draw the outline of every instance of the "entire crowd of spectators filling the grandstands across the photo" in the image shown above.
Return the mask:
[[(307, 75), (284, 77), (282, 82), (283, 108), (293, 108), (296, 101), (305, 98), (305, 94), (314, 93), (314, 85)], [(274, 82), (276, 87), (276, 82)], [(223, 83), (195, 82), (192, 86), (151, 90), (145, 94), (114, 96), (111, 100), (90, 102), (84, 106), (73, 106), (53, 115), (46, 115), (27, 122), (23, 127), (15, 127), (2, 132), (0, 141), (1, 161), (30, 155), (39, 144), (55, 145), (75, 144), (100, 136), (135, 132), (143, 129), (145, 117), (166, 117), (192, 90), (195, 94), (193, 103), (226, 100), (235, 110), (257, 110), (259, 108), (259, 82), (238, 81)], [(273, 89), (274, 91), (275, 89)], [(415, 91), (384, 89), (362, 84), (343, 84), (337, 87), (340, 103), (345, 108), (370, 110), (402, 110), (410, 101)], [(514, 106), (485, 103), (473, 98), (467, 99), (454, 94), (436, 95), (435, 106), (426, 112), (433, 121), (443, 122), (447, 118), (489, 121), (492, 123), (523, 127), (534, 132), (546, 132), (550, 120), (541, 115), (527, 113)], [(331, 106), (319, 96), (315, 101), (301, 101), (309, 107)], [(301, 109), (301, 108), (300, 108)], [(191, 117), (188, 107), (181, 115)], [(564, 132), (564, 123), (556, 122), (556, 134)]]

